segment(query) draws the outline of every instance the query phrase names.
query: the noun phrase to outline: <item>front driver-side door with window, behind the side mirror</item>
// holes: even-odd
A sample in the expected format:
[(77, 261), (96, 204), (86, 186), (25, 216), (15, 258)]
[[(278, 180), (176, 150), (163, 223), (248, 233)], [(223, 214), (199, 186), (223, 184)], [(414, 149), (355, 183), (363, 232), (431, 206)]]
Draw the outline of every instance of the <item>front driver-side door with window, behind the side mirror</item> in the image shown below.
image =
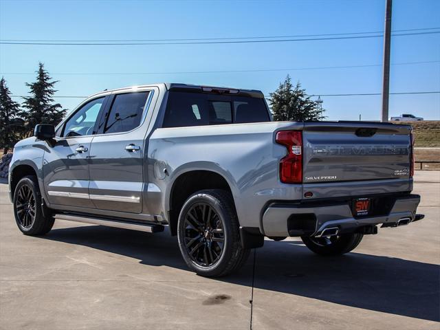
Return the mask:
[(44, 186), (49, 203), (95, 208), (89, 198), (89, 152), (107, 97), (84, 104), (65, 120), (56, 143), (44, 155)]

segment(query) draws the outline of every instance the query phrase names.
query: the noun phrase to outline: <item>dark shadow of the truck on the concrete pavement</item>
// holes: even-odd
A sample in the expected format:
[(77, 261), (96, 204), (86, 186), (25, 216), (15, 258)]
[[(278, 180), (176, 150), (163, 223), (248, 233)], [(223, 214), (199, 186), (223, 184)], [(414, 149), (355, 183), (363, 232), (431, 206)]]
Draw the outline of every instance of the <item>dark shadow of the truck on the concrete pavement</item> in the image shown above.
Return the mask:
[[(129, 256), (145, 265), (188, 270), (177, 239), (168, 232), (147, 234), (82, 226), (54, 229), (43, 238)], [(253, 254), (238, 274), (210, 281), (251, 286), (252, 263)], [(265, 241), (265, 246), (256, 250), (254, 287), (440, 321), (439, 276), (439, 265), (359, 253), (324, 258), (309, 252), (299, 241)]]

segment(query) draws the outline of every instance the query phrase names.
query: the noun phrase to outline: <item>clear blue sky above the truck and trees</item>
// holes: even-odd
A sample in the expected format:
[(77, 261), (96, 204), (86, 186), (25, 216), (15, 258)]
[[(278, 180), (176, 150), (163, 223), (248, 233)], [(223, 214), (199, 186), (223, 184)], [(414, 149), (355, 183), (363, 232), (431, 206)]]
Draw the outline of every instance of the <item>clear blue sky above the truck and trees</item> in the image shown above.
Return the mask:
[[(0, 1), (0, 39), (191, 39), (382, 31), (384, 0)], [(440, 1), (394, 0), (393, 30), (439, 28)], [(437, 30), (439, 31), (439, 30)], [(274, 91), (287, 74), (308, 94), (380, 93), (382, 38), (214, 45), (0, 45), (0, 72), (15, 95), (28, 93), (39, 61), (58, 96), (157, 82)], [(440, 91), (440, 34), (396, 36), (391, 92)], [(163, 74), (246, 69), (265, 72)], [(162, 72), (102, 75), (94, 73)], [(20, 74), (17, 74), (20, 73)], [(66, 74), (67, 73), (67, 74)], [(73, 73), (73, 74), (72, 74)], [(84, 73), (84, 74), (83, 74)], [(87, 73), (87, 74), (85, 74)], [(322, 96), (329, 120), (380, 118), (381, 96)], [(19, 100), (19, 99), (17, 99)], [(78, 98), (57, 98), (74, 109)], [(440, 94), (393, 95), (390, 115), (440, 120)]]

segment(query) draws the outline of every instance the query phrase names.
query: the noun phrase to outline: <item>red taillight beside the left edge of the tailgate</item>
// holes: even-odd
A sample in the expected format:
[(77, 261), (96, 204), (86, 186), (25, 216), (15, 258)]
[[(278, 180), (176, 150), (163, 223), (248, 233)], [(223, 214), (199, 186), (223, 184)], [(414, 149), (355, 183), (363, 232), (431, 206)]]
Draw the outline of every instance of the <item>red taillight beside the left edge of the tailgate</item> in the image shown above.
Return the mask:
[(287, 155), (280, 161), (280, 179), (285, 184), (303, 182), (303, 132), (279, 131), (276, 143), (287, 148)]

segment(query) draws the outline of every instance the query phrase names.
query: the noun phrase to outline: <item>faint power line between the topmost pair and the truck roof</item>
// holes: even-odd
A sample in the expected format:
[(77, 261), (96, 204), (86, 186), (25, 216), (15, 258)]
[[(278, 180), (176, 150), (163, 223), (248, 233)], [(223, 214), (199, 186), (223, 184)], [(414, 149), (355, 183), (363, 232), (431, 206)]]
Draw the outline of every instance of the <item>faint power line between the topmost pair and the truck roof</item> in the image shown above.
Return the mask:
[[(440, 61), (419, 61), (419, 62), (404, 62), (393, 63), (392, 65), (415, 65), (415, 64), (428, 64), (428, 63), (440, 63)], [(65, 76), (119, 76), (119, 75), (146, 75), (146, 74), (231, 74), (241, 72), (276, 72), (276, 71), (296, 71), (296, 70), (316, 70), (316, 69), (350, 69), (355, 67), (382, 67), (382, 64), (365, 64), (365, 65), (341, 65), (341, 66), (329, 66), (329, 67), (294, 67), (289, 69), (244, 69), (244, 70), (219, 70), (219, 71), (181, 71), (181, 72), (51, 72), (52, 75), (65, 75)], [(0, 72), (0, 74), (10, 75), (34, 75), (35, 73), (26, 72)]]

